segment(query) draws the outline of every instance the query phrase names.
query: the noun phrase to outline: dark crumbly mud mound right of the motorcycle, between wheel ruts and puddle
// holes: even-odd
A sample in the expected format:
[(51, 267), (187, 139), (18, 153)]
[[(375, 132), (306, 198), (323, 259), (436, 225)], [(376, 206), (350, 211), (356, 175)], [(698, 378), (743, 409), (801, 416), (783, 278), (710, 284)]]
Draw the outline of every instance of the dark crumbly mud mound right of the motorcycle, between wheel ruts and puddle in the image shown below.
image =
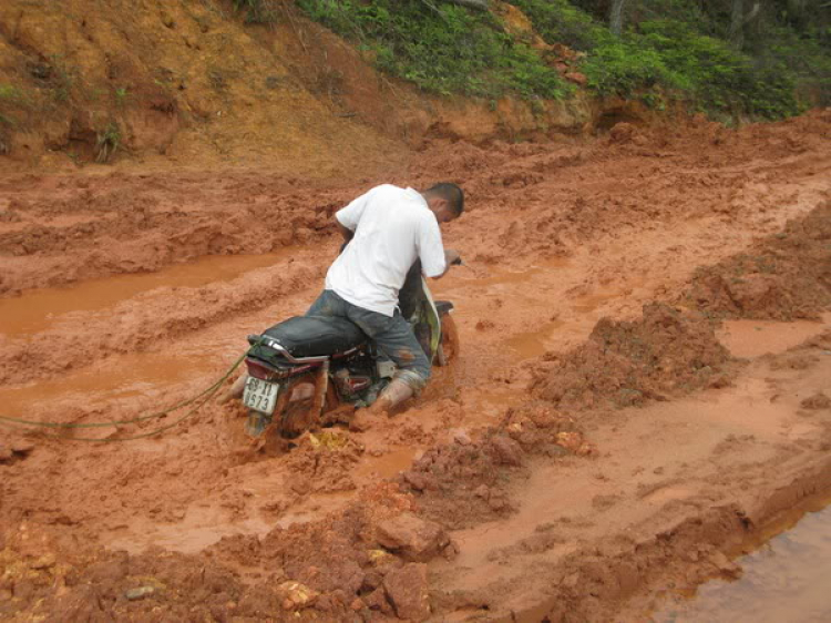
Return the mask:
[(557, 408), (640, 405), (724, 382), (729, 359), (699, 314), (652, 303), (636, 321), (602, 318), (585, 344), (546, 355), (531, 390)]

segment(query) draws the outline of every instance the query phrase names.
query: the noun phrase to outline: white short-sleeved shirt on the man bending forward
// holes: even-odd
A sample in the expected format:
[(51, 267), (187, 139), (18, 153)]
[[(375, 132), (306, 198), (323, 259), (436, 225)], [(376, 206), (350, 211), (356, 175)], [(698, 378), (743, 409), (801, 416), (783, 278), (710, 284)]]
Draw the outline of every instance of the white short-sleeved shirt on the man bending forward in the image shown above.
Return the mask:
[(326, 275), (326, 289), (352, 305), (392, 316), (416, 259), (428, 277), (444, 273), (435, 215), (412, 188), (383, 184), (335, 215), (355, 237)]

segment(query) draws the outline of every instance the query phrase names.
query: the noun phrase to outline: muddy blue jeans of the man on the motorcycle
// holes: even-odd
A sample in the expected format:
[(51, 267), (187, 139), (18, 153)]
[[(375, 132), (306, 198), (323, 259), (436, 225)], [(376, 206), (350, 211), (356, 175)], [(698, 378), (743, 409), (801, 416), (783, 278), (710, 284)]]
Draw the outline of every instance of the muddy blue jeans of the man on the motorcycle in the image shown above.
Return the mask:
[(376, 343), (376, 346), (398, 366), (396, 376), (414, 390), (422, 389), (430, 379), (430, 361), (424, 355), (410, 324), (396, 309), (394, 316), (384, 316), (343, 300), (332, 290), (324, 293), (311, 304), (307, 316), (340, 316), (351, 320)]

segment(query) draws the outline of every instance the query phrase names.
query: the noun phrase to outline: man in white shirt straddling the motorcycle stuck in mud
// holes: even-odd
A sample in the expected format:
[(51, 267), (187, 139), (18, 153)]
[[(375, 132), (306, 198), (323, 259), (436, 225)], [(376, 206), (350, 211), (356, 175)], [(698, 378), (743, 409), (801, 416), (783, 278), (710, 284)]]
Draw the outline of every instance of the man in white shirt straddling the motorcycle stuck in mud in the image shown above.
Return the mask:
[(396, 364), (370, 415), (390, 411), (430, 379), (431, 362), (401, 315), (399, 290), (417, 261), (425, 276), (437, 279), (461, 263), (455, 251), (444, 248), (439, 224), (463, 211), (464, 193), (455, 184), (435, 184), (422, 192), (383, 184), (335, 215), (347, 244), (306, 315), (349, 319)]

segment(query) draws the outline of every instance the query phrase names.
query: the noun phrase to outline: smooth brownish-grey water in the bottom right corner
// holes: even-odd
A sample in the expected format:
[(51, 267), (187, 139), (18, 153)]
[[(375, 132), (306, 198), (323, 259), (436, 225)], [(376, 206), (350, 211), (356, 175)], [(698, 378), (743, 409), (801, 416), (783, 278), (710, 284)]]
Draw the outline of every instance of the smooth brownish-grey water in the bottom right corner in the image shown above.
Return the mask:
[(653, 613), (653, 623), (831, 621), (831, 505), (813, 511), (737, 559), (741, 578), (707, 582), (693, 599)]

